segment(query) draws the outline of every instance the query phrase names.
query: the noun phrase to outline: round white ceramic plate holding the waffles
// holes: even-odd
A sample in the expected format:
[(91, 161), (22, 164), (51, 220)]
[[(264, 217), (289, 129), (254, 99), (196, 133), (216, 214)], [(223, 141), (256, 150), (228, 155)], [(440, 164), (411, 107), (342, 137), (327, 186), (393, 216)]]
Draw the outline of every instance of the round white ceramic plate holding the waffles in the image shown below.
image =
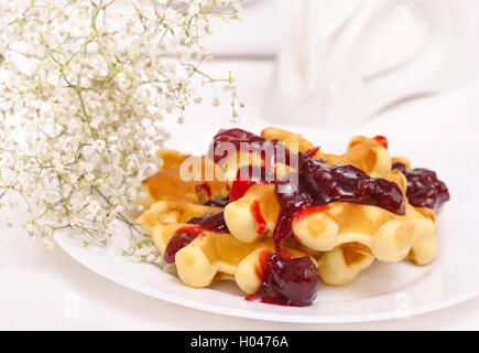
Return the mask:
[[(333, 140), (330, 141), (333, 143)], [(326, 145), (325, 145), (326, 146)], [(432, 165), (436, 167), (436, 165)], [(130, 289), (181, 306), (210, 312), (285, 322), (359, 322), (434, 311), (479, 295), (479, 236), (471, 216), (479, 192), (476, 178), (455, 165), (436, 168), (449, 186), (451, 200), (438, 220), (439, 252), (426, 267), (375, 261), (344, 287), (322, 286), (312, 307), (291, 308), (243, 300), (232, 282), (192, 289), (152, 265), (133, 264), (117, 255), (127, 247), (126, 234), (109, 248), (83, 248), (57, 236), (59, 246), (95, 272)]]

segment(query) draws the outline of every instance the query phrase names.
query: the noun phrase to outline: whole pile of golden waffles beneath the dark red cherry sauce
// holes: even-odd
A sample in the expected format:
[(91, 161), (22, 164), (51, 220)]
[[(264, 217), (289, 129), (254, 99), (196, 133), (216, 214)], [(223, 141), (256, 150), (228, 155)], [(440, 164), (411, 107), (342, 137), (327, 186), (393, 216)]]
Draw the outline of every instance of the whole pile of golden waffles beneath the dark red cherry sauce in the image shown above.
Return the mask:
[[(185, 285), (203, 288), (216, 280), (232, 280), (246, 293), (257, 293), (268, 282), (268, 271), (272, 271), (265, 267), (265, 258), (280, 252), (279, 246), (291, 259), (309, 259), (307, 264), (313, 264), (322, 282), (331, 286), (351, 281), (374, 260), (409, 260), (415, 265), (433, 261), (437, 252), (436, 212), (410, 204), (406, 176), (392, 170), (392, 165), (402, 163), (410, 169), (411, 163), (404, 157), (391, 158), (385, 139), (357, 136), (344, 154), (336, 156), (320, 151), (301, 135), (290, 131), (266, 128), (261, 136), (283, 143), (290, 152), (301, 152), (329, 165), (350, 164), (370, 178), (392, 182), (399, 186), (398, 194), (402, 192), (404, 212), (345, 201), (309, 205), (292, 218), (293, 238), (279, 245), (273, 236), (282, 206), (274, 182), (253, 183), (225, 207), (205, 203), (228, 197), (240, 167), (273, 167), (274, 176), (280, 180), (295, 171), (293, 165), (269, 165), (254, 151), (232, 151), (216, 164), (205, 156), (163, 149), (157, 153), (163, 159), (160, 171), (143, 181), (148, 197), (141, 202), (148, 210), (137, 222), (152, 237), (160, 254), (170, 256)], [(200, 165), (196, 170), (189, 168), (193, 180), (181, 178), (185, 168), (188, 170), (185, 163)], [(206, 188), (198, 188), (205, 182)], [(221, 211), (225, 232), (192, 223), (192, 218)], [(194, 237), (172, 256), (168, 245), (182, 232), (193, 232)]]

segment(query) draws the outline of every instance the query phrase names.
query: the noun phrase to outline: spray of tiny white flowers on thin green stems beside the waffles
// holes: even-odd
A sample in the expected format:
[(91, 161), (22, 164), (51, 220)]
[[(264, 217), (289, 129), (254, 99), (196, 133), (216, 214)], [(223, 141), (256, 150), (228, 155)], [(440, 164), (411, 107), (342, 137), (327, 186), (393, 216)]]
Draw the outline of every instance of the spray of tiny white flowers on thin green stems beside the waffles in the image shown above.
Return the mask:
[[(24, 227), (108, 244), (167, 138), (162, 119), (199, 103), (211, 17), (238, 19), (241, 0), (0, 0), (0, 212), (20, 195)], [(135, 242), (141, 259), (155, 257)], [(146, 253), (148, 254), (146, 254)]]

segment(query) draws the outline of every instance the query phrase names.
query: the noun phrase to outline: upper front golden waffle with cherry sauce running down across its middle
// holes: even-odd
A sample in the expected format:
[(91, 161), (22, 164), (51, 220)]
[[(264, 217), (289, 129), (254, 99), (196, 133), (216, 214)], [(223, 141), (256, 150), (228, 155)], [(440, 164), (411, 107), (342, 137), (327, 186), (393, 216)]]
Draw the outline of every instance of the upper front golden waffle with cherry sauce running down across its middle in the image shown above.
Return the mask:
[[(403, 174), (391, 171), (387, 176), (405, 190)], [(266, 223), (262, 234), (254, 231), (254, 203)], [(225, 220), (231, 234), (240, 242), (254, 243), (271, 235), (279, 213), (274, 185), (254, 185), (243, 197), (225, 207)], [(341, 244), (357, 243), (375, 258), (390, 263), (404, 259), (416, 239), (435, 238), (434, 222), (407, 202), (403, 216), (375, 206), (334, 202), (317, 213), (308, 211), (304, 216), (297, 215), (292, 228), (296, 239), (308, 248), (329, 252)]]

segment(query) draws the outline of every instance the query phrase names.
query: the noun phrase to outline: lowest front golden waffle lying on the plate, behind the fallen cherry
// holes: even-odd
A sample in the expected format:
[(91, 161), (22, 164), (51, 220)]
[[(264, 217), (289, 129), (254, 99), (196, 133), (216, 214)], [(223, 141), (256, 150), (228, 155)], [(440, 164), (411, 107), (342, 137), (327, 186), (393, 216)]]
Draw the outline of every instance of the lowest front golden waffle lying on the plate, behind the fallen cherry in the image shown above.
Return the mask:
[[(161, 254), (178, 229), (194, 227), (189, 224), (159, 222), (152, 232), (153, 243)], [(294, 257), (305, 252), (285, 247)], [(235, 280), (246, 293), (254, 293), (262, 281), (262, 258), (274, 252), (272, 238), (254, 244), (242, 243), (231, 234), (202, 231), (192, 243), (176, 253), (175, 265), (179, 279), (189, 287), (210, 286), (215, 280)], [(322, 254), (317, 260), (324, 282), (344, 285), (360, 270), (372, 264), (373, 257), (348, 247)]]

